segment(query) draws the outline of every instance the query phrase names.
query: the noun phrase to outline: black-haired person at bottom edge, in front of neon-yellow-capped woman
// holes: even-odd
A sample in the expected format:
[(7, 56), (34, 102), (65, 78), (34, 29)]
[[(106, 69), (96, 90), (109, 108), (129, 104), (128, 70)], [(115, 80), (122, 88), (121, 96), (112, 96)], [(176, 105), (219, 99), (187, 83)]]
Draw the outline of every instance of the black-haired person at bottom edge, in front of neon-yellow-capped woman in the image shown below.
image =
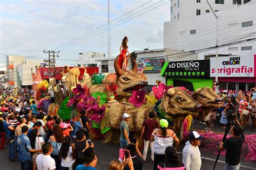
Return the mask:
[(171, 170), (171, 169), (176, 169), (176, 170), (183, 170), (185, 169), (185, 166), (183, 162), (180, 162), (177, 157), (177, 151), (175, 148), (172, 146), (168, 146), (165, 149), (165, 157), (166, 160), (159, 164), (157, 167), (160, 170)]

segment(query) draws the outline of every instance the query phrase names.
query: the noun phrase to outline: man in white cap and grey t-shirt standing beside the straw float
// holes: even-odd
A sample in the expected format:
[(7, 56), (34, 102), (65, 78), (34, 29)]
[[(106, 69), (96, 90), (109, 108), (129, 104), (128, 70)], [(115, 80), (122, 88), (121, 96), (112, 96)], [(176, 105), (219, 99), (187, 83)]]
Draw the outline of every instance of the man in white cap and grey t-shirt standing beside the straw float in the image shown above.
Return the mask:
[(123, 121), (120, 124), (120, 145), (121, 148), (125, 148), (127, 145), (129, 145), (131, 142), (129, 140), (129, 127), (127, 122), (130, 121), (130, 115), (124, 113), (123, 114)]

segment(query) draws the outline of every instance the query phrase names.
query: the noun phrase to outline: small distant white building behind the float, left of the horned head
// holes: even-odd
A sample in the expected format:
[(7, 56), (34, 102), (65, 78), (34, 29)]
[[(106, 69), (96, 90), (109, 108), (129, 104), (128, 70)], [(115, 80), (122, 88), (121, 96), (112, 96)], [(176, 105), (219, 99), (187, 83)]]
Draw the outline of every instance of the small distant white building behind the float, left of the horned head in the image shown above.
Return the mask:
[(76, 60), (78, 67), (99, 67), (100, 59), (105, 59), (105, 54), (100, 52), (83, 52), (79, 53), (79, 59)]

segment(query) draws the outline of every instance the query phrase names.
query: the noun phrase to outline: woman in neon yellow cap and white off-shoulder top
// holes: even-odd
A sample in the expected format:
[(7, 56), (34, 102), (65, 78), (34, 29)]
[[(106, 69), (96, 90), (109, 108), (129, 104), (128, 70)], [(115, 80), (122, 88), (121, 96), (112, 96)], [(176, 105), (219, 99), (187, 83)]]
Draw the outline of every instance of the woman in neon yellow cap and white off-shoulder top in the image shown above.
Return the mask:
[(176, 149), (179, 146), (179, 139), (174, 131), (168, 128), (168, 121), (166, 119), (160, 120), (160, 129), (154, 129), (150, 141), (154, 141), (154, 170), (157, 166), (165, 160), (165, 149), (167, 146), (173, 145), (173, 140), (176, 142)]

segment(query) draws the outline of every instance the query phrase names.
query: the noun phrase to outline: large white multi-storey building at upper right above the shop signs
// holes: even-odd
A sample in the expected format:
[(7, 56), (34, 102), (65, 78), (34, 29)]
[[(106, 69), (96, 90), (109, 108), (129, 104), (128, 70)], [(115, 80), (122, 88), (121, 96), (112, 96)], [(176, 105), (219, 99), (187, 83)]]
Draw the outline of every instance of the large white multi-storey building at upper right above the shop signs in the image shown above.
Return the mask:
[[(218, 16), (218, 53), (248, 55), (256, 44), (246, 41), (255, 38), (256, 2), (250, 0), (208, 0)], [(206, 0), (171, 0), (171, 20), (164, 23), (164, 47), (196, 51), (199, 59), (215, 54), (217, 19)], [(252, 54), (253, 55), (253, 54)]]

